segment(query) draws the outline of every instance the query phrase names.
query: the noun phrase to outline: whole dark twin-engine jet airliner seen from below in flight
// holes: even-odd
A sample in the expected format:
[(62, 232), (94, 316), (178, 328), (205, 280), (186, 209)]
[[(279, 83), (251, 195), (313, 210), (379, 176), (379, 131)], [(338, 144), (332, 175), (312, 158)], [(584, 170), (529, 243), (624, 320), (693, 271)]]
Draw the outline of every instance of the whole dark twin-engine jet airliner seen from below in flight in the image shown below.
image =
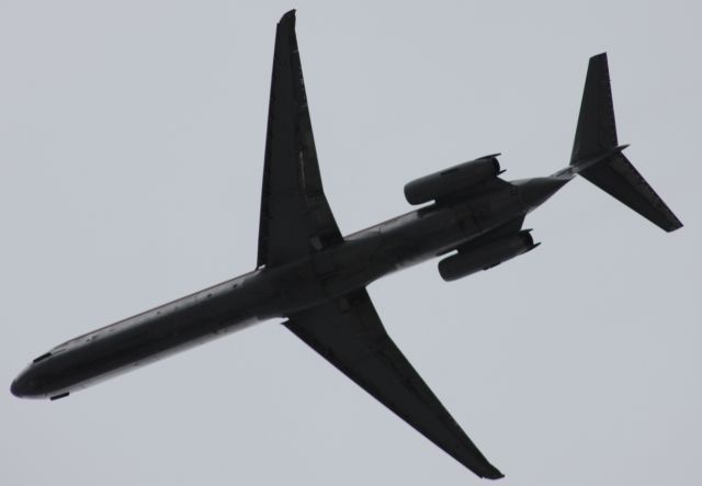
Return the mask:
[[(480, 477), (502, 474), (471, 442), (388, 337), (365, 291), (438, 256), (446, 281), (525, 253), (524, 216), (576, 174), (666, 231), (682, 226), (619, 145), (607, 55), (590, 59), (569, 167), (507, 182), (496, 155), (405, 185), (416, 211), (341, 236), (317, 166), (295, 12), (278, 24), (257, 269), (71, 339), (12, 383), (19, 397), (61, 398), (136, 365), (261, 320), (284, 325), (407, 423)], [(449, 255), (451, 253), (451, 255)]]

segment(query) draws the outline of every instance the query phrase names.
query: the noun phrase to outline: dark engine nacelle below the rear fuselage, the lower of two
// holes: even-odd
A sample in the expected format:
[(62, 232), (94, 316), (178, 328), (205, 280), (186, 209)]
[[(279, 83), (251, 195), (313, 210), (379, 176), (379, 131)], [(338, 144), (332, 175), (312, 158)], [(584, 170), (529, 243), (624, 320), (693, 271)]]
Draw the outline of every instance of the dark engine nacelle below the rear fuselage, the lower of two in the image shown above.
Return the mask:
[(480, 270), (487, 270), (518, 255), (537, 247), (529, 231), (490, 241), (465, 252), (458, 252), (439, 262), (439, 274), (451, 282)]

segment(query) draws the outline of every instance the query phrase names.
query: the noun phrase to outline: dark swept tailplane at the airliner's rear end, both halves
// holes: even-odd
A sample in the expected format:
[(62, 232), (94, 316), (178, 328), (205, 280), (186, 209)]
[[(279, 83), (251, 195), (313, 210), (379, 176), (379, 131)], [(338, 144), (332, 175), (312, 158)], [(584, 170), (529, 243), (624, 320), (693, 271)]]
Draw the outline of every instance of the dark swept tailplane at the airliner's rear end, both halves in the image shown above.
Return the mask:
[(625, 146), (616, 144), (610, 74), (607, 54), (603, 53), (591, 57), (588, 66), (570, 171), (579, 173), (666, 231), (680, 228), (682, 223), (624, 157), (622, 149)]

